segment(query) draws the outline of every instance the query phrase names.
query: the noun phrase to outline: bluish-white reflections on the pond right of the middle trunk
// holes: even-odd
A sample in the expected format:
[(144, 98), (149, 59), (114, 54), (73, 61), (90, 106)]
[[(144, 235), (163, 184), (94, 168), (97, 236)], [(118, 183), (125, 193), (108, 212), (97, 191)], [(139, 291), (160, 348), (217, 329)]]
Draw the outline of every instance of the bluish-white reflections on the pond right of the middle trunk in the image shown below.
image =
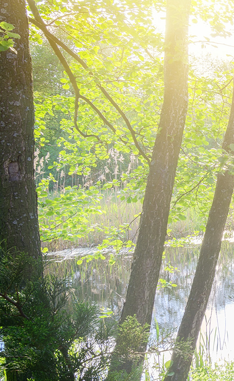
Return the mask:
[[(234, 295), (234, 245), (223, 242), (216, 269), (215, 282), (209, 299), (208, 308), (222, 309), (233, 302)], [(180, 324), (192, 286), (198, 249), (169, 248), (168, 258), (180, 272), (170, 274), (170, 280), (176, 288), (161, 289), (156, 293), (155, 316), (160, 327), (170, 328)], [(176, 255), (175, 255), (176, 254)], [(173, 261), (172, 261), (173, 256)], [(169, 259), (169, 260), (170, 260)], [(165, 276), (165, 275), (164, 275)], [(167, 279), (168, 280), (168, 279)]]

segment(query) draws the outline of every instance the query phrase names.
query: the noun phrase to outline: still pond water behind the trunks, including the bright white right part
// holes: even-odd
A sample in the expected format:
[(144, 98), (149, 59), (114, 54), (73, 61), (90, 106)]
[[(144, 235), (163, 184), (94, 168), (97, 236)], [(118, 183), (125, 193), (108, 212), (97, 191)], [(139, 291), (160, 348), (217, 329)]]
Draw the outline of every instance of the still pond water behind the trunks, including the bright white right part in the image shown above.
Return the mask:
[[(81, 255), (93, 254), (90, 249), (73, 249), (51, 253), (50, 272), (59, 275), (71, 274), (76, 286), (76, 295), (80, 299), (97, 302), (100, 307), (111, 309), (118, 319), (121, 313), (124, 297), (127, 291), (128, 278), (131, 268), (131, 254), (123, 252), (117, 257), (114, 265), (106, 260), (83, 261), (77, 260)], [(173, 273), (163, 271), (161, 278), (175, 283), (177, 287), (160, 288), (156, 291), (153, 324), (151, 336), (156, 336), (155, 319), (159, 332), (171, 332), (179, 326), (183, 316), (186, 301), (195, 274), (199, 255), (199, 245), (184, 248), (167, 247), (164, 265), (170, 263), (177, 268)], [(108, 255), (106, 256), (106, 258)], [(215, 282), (209, 299), (206, 317), (201, 329), (201, 343), (207, 347), (204, 354), (211, 356), (212, 362), (219, 359), (234, 360), (234, 243), (224, 241), (216, 268)], [(170, 333), (169, 336), (173, 334)], [(169, 360), (170, 354), (165, 352), (164, 360)], [(153, 364), (152, 358), (149, 360)]]

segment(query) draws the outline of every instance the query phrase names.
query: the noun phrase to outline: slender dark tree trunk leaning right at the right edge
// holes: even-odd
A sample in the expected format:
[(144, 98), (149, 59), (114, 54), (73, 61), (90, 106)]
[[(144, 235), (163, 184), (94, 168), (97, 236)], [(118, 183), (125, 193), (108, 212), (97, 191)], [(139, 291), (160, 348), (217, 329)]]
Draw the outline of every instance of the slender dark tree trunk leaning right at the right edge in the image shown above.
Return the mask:
[[(230, 151), (230, 144), (234, 144), (234, 93), (222, 148)], [(164, 381), (187, 380), (197, 337), (215, 277), (215, 268), (233, 189), (234, 176), (229, 173), (229, 170), (217, 175), (215, 195), (209, 212), (206, 232), (202, 240), (195, 277), (172, 355), (173, 364), (170, 367), (170, 372), (174, 372), (174, 375), (165, 377)], [(190, 346), (190, 353), (183, 351), (183, 343), (185, 342)]]

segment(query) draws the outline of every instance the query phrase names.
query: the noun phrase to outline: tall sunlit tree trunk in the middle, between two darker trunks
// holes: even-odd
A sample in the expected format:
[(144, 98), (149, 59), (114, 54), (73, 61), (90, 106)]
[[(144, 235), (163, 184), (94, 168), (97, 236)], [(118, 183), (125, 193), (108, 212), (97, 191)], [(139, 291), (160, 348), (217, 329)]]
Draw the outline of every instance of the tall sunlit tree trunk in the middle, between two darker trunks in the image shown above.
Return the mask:
[[(153, 150), (120, 324), (136, 315), (150, 324), (167, 231), (170, 202), (188, 107), (188, 19), (190, 0), (168, 0), (164, 100)], [(118, 343), (117, 343), (118, 345)], [(141, 348), (144, 352), (145, 346)], [(121, 364), (128, 373), (129, 361)]]

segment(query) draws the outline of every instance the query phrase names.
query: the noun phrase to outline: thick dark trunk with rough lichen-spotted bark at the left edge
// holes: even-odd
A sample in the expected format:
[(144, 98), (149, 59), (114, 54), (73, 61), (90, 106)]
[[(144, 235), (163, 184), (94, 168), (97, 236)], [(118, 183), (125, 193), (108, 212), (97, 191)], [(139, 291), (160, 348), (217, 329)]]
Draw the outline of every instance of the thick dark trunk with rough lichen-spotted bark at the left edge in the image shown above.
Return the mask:
[(0, 52), (0, 242), (40, 254), (34, 183), (34, 106), (24, 0), (1, 0), (0, 21), (15, 26), (17, 54)]

